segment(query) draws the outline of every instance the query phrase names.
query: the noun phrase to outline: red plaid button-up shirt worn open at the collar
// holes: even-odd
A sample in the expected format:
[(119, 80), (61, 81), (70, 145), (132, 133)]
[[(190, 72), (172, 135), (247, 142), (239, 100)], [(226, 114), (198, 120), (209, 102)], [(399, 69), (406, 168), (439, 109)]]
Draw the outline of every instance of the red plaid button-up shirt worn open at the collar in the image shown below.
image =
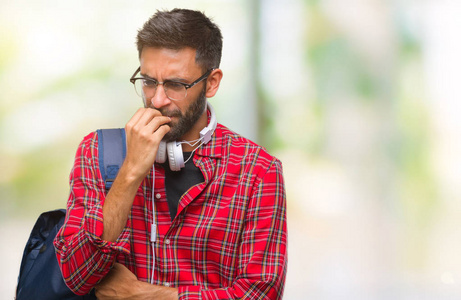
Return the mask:
[[(152, 175), (139, 187), (117, 241), (104, 241), (105, 190), (97, 158), (92, 133), (77, 150), (66, 221), (55, 239), (64, 280), (78, 294), (89, 292), (115, 261), (142, 281), (152, 272)], [(281, 162), (220, 124), (193, 162), (205, 182), (181, 197), (173, 221), (164, 170), (155, 167), (154, 283), (177, 287), (179, 299), (281, 298), (287, 269)]]

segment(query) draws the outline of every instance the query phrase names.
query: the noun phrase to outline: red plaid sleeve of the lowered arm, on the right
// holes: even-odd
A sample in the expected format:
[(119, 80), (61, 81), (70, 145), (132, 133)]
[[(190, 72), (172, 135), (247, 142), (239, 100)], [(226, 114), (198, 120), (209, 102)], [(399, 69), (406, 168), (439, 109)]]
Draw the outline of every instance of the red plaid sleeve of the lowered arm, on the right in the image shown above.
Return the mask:
[(282, 165), (273, 159), (251, 195), (232, 286), (180, 286), (179, 299), (281, 299), (287, 271), (286, 196)]

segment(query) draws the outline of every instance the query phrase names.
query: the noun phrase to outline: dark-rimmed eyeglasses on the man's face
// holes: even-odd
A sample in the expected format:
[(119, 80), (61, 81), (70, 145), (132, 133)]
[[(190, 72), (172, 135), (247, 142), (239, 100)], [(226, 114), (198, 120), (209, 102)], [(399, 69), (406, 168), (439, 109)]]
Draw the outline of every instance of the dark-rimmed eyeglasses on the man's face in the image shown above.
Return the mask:
[(197, 80), (192, 83), (184, 83), (173, 80), (165, 80), (163, 82), (157, 81), (152, 78), (146, 77), (136, 77), (136, 75), (141, 71), (139, 67), (133, 76), (130, 78), (130, 82), (134, 85), (136, 93), (140, 97), (152, 98), (157, 91), (159, 84), (163, 85), (166, 96), (173, 101), (184, 100), (187, 97), (187, 90), (199, 83), (200, 81), (206, 79), (214, 69), (208, 70), (205, 74), (200, 76)]

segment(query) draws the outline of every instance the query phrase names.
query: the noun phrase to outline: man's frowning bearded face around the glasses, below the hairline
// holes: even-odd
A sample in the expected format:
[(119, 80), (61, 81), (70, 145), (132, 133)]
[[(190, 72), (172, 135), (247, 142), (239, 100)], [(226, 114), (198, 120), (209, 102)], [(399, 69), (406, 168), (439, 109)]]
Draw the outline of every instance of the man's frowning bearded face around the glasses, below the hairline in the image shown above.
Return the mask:
[[(201, 75), (203, 70), (195, 63), (195, 50), (145, 48), (141, 53), (141, 75), (157, 81), (165, 80), (191, 83)], [(159, 85), (155, 95), (145, 99), (145, 106), (159, 110), (169, 116), (171, 130), (164, 140), (191, 140), (206, 126), (206, 80), (187, 90), (184, 100), (170, 100)], [(203, 123), (205, 120), (205, 124)], [(198, 132), (197, 132), (198, 131)]]

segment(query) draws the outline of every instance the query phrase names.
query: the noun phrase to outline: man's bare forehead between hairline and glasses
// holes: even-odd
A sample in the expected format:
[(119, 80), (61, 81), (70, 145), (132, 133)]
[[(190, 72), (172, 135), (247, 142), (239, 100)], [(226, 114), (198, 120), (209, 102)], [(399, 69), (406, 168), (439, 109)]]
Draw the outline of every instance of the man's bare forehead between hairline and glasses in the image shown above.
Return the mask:
[(200, 74), (195, 62), (196, 50), (192, 48), (167, 49), (145, 47), (140, 55), (141, 73), (153, 78), (180, 76), (188, 78)]

